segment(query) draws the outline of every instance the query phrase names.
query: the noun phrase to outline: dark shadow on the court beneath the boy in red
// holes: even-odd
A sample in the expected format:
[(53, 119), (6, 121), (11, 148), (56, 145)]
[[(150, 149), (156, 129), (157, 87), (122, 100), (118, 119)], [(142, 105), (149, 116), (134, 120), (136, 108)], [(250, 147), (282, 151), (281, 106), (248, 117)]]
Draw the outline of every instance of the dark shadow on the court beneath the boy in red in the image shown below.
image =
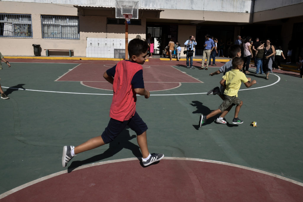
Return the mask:
[[(109, 148), (102, 154), (95, 155), (95, 156), (85, 159), (83, 161), (72, 161), (71, 165), (68, 167), (68, 173), (72, 172), (79, 166), (95, 163), (98, 161), (102, 161), (103, 159), (112, 157), (115, 154), (117, 154), (119, 151), (121, 151), (123, 148), (131, 150), (132, 153), (134, 154), (134, 156), (137, 157), (138, 160), (141, 160), (142, 154), (140, 151), (140, 147), (138, 145), (130, 142), (131, 139), (136, 138), (136, 137), (137, 137), (136, 135), (130, 136), (129, 131), (124, 129), (124, 131), (122, 131), (122, 133), (119, 134), (118, 137), (116, 137), (114, 141), (109, 143)], [(143, 167), (143, 164), (141, 161), (140, 161), (140, 164)]]

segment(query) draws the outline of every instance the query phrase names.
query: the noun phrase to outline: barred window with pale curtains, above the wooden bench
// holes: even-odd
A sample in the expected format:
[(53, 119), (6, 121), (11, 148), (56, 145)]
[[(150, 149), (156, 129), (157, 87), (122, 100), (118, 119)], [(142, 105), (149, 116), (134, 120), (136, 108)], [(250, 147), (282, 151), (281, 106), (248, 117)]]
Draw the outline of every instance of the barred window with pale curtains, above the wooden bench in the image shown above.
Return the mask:
[(41, 15), (42, 38), (79, 39), (78, 16)]

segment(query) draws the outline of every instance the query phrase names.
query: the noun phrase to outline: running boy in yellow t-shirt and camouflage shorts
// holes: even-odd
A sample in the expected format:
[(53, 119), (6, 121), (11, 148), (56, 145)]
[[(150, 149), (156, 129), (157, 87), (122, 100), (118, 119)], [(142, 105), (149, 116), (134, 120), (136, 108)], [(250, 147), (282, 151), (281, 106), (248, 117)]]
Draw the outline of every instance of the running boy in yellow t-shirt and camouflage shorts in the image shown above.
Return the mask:
[[(226, 110), (227, 110), (227, 113), (228, 113), (228, 109), (230, 110), (229, 107), (232, 104), (237, 105), (236, 109), (235, 109), (235, 117), (232, 120), (232, 123), (233, 124), (243, 123), (243, 121), (241, 121), (238, 118), (240, 108), (243, 104), (243, 102), (240, 100), (240, 98), (238, 98), (238, 91), (240, 89), (240, 86), (241, 86), (242, 82), (245, 84), (245, 86), (247, 88), (256, 83), (256, 80), (253, 80), (253, 81), (251, 81), (251, 83), (249, 83), (248, 81), (250, 81), (251, 79), (246, 78), (245, 74), (243, 72), (241, 72), (243, 64), (244, 64), (244, 61), (243, 61), (242, 58), (239, 58), (239, 57), (233, 58), (231, 71), (226, 72), (226, 74), (222, 77), (223, 79), (220, 81), (220, 84), (225, 87), (224, 101), (222, 102), (222, 104), (219, 106), (219, 108), (217, 110), (212, 111), (211, 113), (209, 113), (206, 116), (205, 115), (200, 115), (200, 120), (199, 120), (200, 127), (202, 126), (202, 124), (205, 123), (205, 121), (208, 118), (211, 118), (211, 117), (213, 117), (213, 116), (215, 116), (219, 113), (222, 113), (223, 111), (226, 111)], [(222, 118), (224, 118), (224, 116), (226, 114), (225, 115), (222, 115), (222, 114), (221, 114), (221, 117), (223, 116)]]

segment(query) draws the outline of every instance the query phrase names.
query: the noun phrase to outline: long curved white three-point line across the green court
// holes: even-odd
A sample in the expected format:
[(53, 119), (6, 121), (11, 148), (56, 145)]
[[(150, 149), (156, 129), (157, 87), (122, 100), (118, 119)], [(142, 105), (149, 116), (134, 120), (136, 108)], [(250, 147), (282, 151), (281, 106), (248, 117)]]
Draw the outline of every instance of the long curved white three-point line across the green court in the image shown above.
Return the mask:
[[(270, 73), (272, 74), (272, 73)], [(275, 75), (275, 74), (272, 74)], [(275, 83), (269, 84), (267, 86), (261, 86), (261, 87), (257, 87), (257, 88), (247, 88), (247, 89), (241, 89), (239, 91), (245, 91), (245, 90), (253, 90), (253, 89), (258, 89), (258, 88), (265, 88), (268, 86), (272, 86), (275, 85), (276, 83), (278, 83), (281, 78), (278, 75), (275, 75), (278, 77), (278, 81), (276, 81)], [(2, 86), (2, 88), (9, 88), (9, 87), (4, 87)], [(100, 94), (100, 93), (73, 93), (73, 92), (60, 92), (60, 91), (40, 91), (40, 90), (31, 90), (31, 89), (22, 89), (22, 88), (12, 88), (12, 89), (16, 89), (16, 90), (23, 90), (23, 91), (38, 91), (38, 92), (48, 92), (48, 93), (66, 93), (66, 94), (85, 94), (85, 95), (113, 95), (113, 94)], [(207, 93), (207, 92), (206, 92)], [(167, 96), (167, 95), (197, 95), (197, 94), (206, 94), (206, 93), (185, 93), (185, 94), (156, 94), (153, 95), (151, 94), (151, 96)]]

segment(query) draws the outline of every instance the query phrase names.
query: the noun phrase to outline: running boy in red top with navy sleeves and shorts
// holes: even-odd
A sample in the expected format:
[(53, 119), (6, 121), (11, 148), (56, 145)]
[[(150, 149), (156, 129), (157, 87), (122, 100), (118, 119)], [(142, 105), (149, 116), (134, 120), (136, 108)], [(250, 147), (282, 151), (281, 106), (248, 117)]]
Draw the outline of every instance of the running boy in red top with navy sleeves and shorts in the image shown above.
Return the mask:
[(94, 137), (77, 147), (64, 146), (62, 166), (76, 155), (104, 144), (110, 143), (128, 125), (137, 134), (137, 142), (142, 152), (142, 163), (147, 166), (160, 161), (163, 154), (150, 154), (147, 147), (147, 125), (136, 112), (136, 94), (149, 98), (149, 91), (144, 88), (143, 68), (147, 58), (148, 44), (146, 41), (135, 38), (128, 44), (129, 60), (118, 62), (117, 65), (108, 69), (103, 77), (113, 84), (113, 99), (109, 112), (111, 119), (101, 136)]

